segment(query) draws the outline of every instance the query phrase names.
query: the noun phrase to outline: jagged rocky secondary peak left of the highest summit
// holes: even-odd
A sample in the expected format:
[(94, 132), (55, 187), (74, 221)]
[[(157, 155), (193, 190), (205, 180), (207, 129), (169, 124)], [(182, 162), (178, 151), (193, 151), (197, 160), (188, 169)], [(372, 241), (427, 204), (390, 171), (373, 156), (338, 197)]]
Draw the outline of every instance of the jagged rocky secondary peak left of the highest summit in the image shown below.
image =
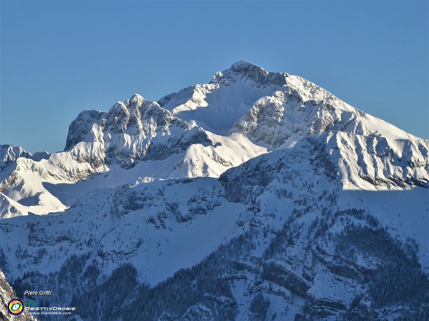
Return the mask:
[(79, 142), (96, 147), (79, 155), (75, 152), (79, 147), (71, 150), (76, 160), (91, 163), (93, 168), (109, 163), (106, 158), (130, 168), (134, 160), (163, 160), (193, 144), (213, 144), (202, 128), (181, 121), (140, 95), (119, 101), (108, 113), (90, 110), (79, 114), (70, 125), (66, 149)]

